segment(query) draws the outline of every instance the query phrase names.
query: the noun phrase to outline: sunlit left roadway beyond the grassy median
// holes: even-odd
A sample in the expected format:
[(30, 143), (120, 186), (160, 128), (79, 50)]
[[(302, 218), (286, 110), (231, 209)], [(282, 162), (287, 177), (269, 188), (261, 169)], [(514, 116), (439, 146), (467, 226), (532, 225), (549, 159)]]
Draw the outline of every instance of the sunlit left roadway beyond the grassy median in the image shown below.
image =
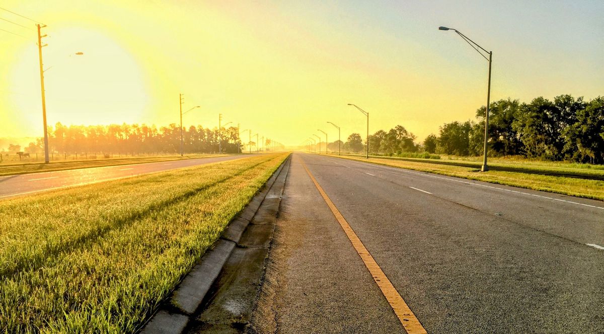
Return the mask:
[(249, 157), (249, 155), (172, 160), (165, 162), (2, 176), (0, 177), (0, 198), (33, 194), (40, 191), (65, 188), (68, 186), (86, 185), (153, 172), (169, 171), (170, 169), (198, 166), (206, 163), (241, 159), (243, 157)]

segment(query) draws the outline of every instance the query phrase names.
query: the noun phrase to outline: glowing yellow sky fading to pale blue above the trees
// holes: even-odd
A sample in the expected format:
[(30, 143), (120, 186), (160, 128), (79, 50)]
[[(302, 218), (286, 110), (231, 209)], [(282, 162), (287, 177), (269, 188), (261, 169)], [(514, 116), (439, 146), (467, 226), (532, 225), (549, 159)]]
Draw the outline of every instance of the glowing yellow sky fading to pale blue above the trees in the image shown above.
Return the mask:
[[(491, 100), (604, 95), (604, 2), (2, 0), (0, 138), (48, 124), (240, 124), (285, 145), (403, 125), (422, 141)], [(12, 21), (19, 25), (4, 21)], [(21, 27), (24, 25), (25, 27)], [(19, 34), (8, 33), (6, 31)], [(83, 55), (76, 55), (82, 52)], [(242, 137), (244, 135), (242, 134)], [(245, 139), (245, 137), (244, 137)]]

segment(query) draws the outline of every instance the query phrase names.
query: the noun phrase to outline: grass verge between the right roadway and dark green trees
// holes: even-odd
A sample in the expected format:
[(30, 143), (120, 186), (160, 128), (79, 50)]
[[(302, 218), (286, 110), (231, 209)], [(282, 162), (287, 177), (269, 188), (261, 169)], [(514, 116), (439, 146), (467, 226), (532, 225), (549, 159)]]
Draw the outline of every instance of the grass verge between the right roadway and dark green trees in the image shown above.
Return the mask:
[(493, 170), (488, 172), (480, 172), (475, 167), (442, 165), (439, 163), (428, 163), (423, 161), (417, 162), (373, 157), (370, 157), (367, 160), (358, 156), (341, 156), (341, 158), (377, 163), (379, 165), (414, 169), (416, 171), (431, 172), (435, 174), (462, 177), (469, 180), (498, 183), (500, 185), (516, 186), (519, 188), (604, 200), (604, 181), (597, 179), (590, 180), (575, 177), (533, 174), (522, 172), (522, 169), (518, 169), (518, 172)]

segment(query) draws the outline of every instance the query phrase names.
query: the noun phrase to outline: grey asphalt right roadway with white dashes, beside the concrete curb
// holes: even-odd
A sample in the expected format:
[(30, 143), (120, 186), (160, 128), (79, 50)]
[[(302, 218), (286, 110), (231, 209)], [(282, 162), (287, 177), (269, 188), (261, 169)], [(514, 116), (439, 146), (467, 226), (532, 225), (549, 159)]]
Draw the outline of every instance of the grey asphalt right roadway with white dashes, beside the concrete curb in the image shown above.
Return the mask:
[(295, 153), (259, 333), (405, 333), (310, 173), (428, 333), (604, 333), (604, 203)]

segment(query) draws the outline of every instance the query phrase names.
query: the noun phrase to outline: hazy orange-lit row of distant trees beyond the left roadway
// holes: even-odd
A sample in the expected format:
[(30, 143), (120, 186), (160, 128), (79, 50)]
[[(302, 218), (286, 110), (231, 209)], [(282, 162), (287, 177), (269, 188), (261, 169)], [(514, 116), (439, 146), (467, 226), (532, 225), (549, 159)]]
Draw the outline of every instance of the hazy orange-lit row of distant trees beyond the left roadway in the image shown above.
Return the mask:
[[(218, 152), (218, 129), (190, 126), (182, 130), (184, 151), (188, 153)], [(48, 127), (48, 146), (51, 152), (60, 154), (121, 153), (156, 154), (180, 152), (181, 132), (176, 124), (169, 126), (138, 125), (70, 125), (57, 123)], [(266, 144), (270, 141), (267, 140)], [(237, 128), (222, 129), (220, 140), (223, 152), (236, 153), (241, 147)], [(41, 152), (43, 140), (30, 143), (26, 151)]]

